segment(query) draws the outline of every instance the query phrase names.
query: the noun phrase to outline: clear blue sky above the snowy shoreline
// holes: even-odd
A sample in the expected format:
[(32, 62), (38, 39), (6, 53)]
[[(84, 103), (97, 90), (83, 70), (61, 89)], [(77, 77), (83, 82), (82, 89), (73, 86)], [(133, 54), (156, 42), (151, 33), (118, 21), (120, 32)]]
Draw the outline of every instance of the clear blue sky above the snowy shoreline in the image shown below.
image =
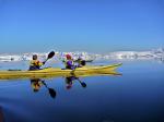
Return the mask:
[(164, 47), (164, 0), (0, 0), (0, 52)]

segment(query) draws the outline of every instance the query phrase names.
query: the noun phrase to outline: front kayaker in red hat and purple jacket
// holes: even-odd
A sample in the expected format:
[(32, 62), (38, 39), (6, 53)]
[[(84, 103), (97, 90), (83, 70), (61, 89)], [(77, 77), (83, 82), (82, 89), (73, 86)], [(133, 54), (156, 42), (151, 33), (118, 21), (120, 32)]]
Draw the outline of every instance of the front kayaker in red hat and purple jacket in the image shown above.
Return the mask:
[(66, 69), (74, 70), (77, 66), (74, 65), (73, 59), (70, 54), (66, 54)]

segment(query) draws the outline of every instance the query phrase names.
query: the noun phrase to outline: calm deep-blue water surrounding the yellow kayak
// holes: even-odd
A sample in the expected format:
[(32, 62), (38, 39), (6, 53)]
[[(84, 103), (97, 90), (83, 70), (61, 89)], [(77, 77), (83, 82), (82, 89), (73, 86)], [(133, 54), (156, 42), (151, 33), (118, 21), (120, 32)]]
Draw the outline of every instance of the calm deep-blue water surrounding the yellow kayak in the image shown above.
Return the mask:
[[(121, 76), (80, 77), (85, 88), (79, 81), (69, 88), (65, 77), (46, 80), (55, 98), (45, 85), (34, 91), (30, 80), (0, 81), (0, 122), (163, 122), (164, 63), (121, 62)], [(0, 69), (15, 64), (0, 63)]]

